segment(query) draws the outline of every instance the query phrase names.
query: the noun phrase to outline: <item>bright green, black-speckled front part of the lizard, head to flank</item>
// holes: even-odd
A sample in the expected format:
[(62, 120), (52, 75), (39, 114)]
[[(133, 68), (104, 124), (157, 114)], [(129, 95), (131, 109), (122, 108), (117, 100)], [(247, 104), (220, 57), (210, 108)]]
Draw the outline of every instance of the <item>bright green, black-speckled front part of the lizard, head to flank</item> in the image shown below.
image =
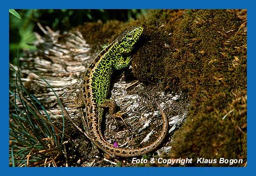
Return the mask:
[(114, 69), (119, 70), (129, 66), (131, 61), (130, 53), (142, 31), (142, 26), (127, 28), (114, 42), (105, 46), (94, 62), (92, 62), (90, 66), (92, 70), (87, 70), (87, 75), (92, 76), (91, 86), (96, 104), (99, 105), (105, 101)]

